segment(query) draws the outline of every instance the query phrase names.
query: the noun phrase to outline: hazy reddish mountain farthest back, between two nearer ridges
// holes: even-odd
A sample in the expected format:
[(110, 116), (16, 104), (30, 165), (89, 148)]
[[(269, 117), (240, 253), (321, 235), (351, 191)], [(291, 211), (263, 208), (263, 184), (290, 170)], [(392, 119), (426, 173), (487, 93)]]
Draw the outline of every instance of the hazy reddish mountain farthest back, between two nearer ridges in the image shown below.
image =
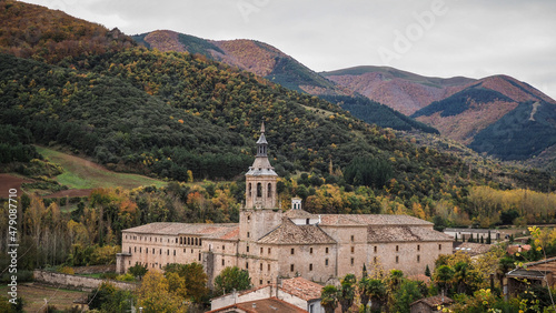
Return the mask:
[(441, 100), (473, 82), (468, 78), (428, 78), (388, 67), (355, 67), (321, 72), (337, 84), (384, 103), (406, 115)]

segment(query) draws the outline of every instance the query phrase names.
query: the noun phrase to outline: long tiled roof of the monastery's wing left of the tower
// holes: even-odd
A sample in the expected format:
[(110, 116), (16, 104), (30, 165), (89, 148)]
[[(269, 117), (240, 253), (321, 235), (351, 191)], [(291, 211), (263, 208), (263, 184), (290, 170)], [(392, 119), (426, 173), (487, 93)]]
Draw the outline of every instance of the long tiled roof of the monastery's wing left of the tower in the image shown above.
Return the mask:
[(127, 229), (122, 232), (146, 233), (155, 235), (191, 234), (209, 239), (236, 240), (239, 235), (239, 224), (150, 223), (132, 229)]

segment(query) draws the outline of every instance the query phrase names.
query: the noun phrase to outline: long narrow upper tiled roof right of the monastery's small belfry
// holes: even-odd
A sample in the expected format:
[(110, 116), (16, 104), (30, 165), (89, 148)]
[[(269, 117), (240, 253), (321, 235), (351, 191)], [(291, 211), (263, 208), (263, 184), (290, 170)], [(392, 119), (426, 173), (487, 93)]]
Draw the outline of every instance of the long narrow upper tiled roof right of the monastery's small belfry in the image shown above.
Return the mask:
[(409, 215), (321, 214), (320, 225), (433, 225), (433, 223)]

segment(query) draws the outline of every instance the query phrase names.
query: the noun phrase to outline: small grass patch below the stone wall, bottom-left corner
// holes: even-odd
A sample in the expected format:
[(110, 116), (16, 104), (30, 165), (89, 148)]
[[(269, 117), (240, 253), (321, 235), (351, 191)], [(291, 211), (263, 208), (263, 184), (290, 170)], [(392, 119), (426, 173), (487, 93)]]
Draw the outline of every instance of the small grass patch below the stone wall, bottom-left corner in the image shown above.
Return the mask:
[[(0, 293), (6, 296), (8, 286), (0, 286)], [(57, 310), (70, 309), (77, 305), (73, 301), (86, 295), (87, 293), (81, 291), (56, 289), (37, 284), (18, 285), (18, 296), (23, 297), (24, 312), (41, 312), (39, 310), (44, 307), (46, 301), (48, 305), (54, 305)]]

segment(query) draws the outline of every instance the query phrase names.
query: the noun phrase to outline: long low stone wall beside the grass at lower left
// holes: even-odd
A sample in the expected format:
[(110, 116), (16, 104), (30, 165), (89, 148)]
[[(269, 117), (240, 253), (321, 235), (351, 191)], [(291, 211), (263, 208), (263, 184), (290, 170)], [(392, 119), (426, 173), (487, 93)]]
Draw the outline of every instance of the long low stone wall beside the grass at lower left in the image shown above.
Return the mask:
[[(91, 291), (98, 287), (105, 281), (100, 279), (53, 273), (40, 270), (34, 270), (33, 276), (34, 281), (38, 283), (53, 285), (53, 286), (63, 286), (67, 289), (81, 290), (81, 291)], [(139, 286), (139, 284), (136, 283), (127, 283), (118, 281), (110, 281), (110, 283), (112, 283), (116, 287), (122, 290), (135, 290)]]

